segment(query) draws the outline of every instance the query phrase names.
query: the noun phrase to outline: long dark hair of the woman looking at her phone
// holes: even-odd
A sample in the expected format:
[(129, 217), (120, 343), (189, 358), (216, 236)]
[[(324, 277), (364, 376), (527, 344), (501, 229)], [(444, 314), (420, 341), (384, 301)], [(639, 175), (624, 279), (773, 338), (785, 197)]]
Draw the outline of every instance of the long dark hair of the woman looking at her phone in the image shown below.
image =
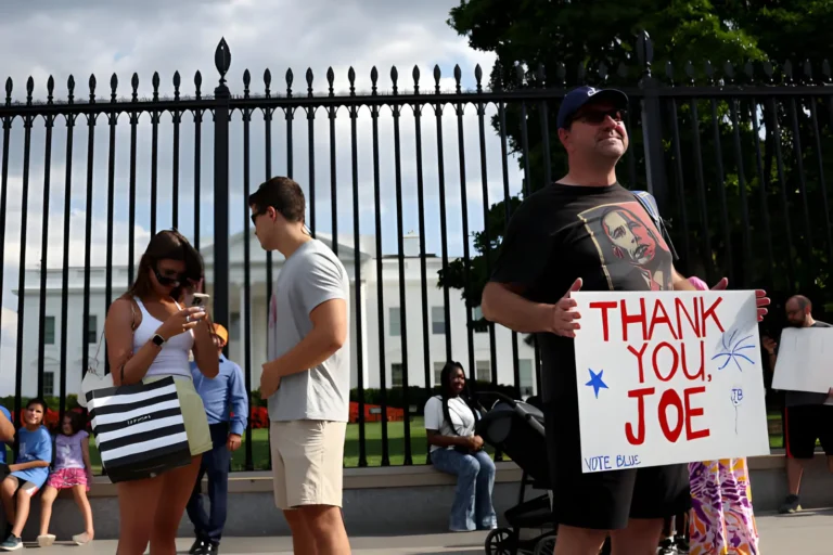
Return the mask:
[[(148, 244), (148, 248), (139, 261), (136, 281), (128, 289), (127, 295), (140, 299), (148, 297), (153, 287), (149, 274), (156, 269), (159, 260), (185, 262), (184, 280), (200, 281), (203, 278), (203, 257), (200, 253), (177, 230), (165, 230), (154, 235)], [(170, 296), (178, 299), (184, 285), (180, 283), (179, 287), (170, 292)]]

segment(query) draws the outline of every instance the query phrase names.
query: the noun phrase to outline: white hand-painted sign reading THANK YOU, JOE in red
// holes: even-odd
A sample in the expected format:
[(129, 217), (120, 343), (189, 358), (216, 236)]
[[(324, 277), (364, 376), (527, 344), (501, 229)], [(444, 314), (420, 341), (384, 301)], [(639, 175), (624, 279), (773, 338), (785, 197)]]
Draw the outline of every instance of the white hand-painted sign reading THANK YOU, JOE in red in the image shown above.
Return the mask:
[(754, 292), (573, 297), (585, 473), (769, 454)]

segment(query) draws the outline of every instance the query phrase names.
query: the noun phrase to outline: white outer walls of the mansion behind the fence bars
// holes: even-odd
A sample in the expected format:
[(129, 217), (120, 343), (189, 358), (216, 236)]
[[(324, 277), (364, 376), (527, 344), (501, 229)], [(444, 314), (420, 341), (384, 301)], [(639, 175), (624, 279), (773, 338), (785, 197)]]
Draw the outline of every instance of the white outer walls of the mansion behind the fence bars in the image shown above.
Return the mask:
[[(256, 242), (257, 240), (254, 238)], [(364, 243), (364, 242), (362, 242)], [(254, 247), (259, 249), (259, 245), (253, 245), (252, 253), (258, 253)], [(240, 253), (240, 248), (233, 248), (232, 251)], [(359, 352), (358, 334), (357, 334), (357, 319), (356, 319), (356, 287), (355, 287), (355, 272), (353, 264), (353, 250), (349, 253), (341, 253), (345, 268), (351, 279), (350, 285), (350, 360), (351, 360), (351, 385), (356, 387), (358, 385), (358, 369), (357, 359)], [(254, 259), (254, 256), (253, 256)], [(278, 260), (277, 257), (275, 260)], [(235, 260), (236, 261), (236, 260)], [(210, 263), (210, 257), (206, 257), (206, 262)], [(241, 309), (244, 305), (242, 288), (240, 282), (242, 282), (243, 272), (240, 264), (242, 261), (236, 261), (230, 268), (230, 278), (233, 283), (230, 283), (229, 297), (230, 307), (229, 313), (231, 317), (235, 314), (245, 314)], [(381, 263), (383, 264), (383, 305), (384, 305), (384, 354), (385, 354), (385, 379), (388, 387), (393, 384), (392, 366), (394, 364), (402, 364), (402, 336), (390, 335), (390, 309), (400, 308), (399, 298), (399, 267), (397, 258), (384, 258)], [(252, 262), (253, 271), (251, 272), (252, 280), (252, 295), (251, 295), (251, 372), (252, 372), (252, 387), (256, 389), (260, 379), (260, 369), (266, 362), (266, 286), (265, 267), (259, 262)], [(381, 384), (381, 365), (380, 365), (380, 337), (379, 337), (379, 287), (376, 282), (376, 260), (367, 258), (361, 263), (361, 315), (362, 315), (362, 366), (364, 376), (364, 387), (375, 388)], [(430, 384), (435, 385), (435, 370), (441, 367), (446, 362), (446, 336), (443, 334), (433, 333), (432, 313), (435, 307), (441, 308), (444, 306), (443, 289), (437, 287), (437, 270), (441, 267), (441, 260), (439, 258), (428, 258), (426, 260), (427, 271), (427, 312), (428, 312), (428, 370), (430, 370)], [(275, 269), (273, 278), (277, 276), (280, 271), (280, 262), (275, 262)], [(84, 313), (84, 297), (82, 297), (82, 269), (71, 269), (69, 272), (69, 294), (68, 294), (68, 336), (67, 336), (67, 392), (77, 393), (80, 389), (81, 379), (81, 330), (82, 330), (82, 313)], [(118, 283), (119, 286), (113, 288), (113, 298), (118, 297), (127, 284), (127, 271), (125, 269), (114, 269), (114, 283)], [(23, 347), (23, 392), (25, 396), (35, 395), (37, 391), (37, 361), (38, 361), (38, 308), (39, 308), (39, 283), (40, 272), (38, 270), (30, 270), (27, 272), (26, 278), (26, 299), (25, 299), (25, 312), (24, 312), (24, 347)], [(405, 306), (405, 327), (407, 328), (407, 347), (408, 347), (408, 382), (413, 386), (425, 386), (425, 363), (424, 363), (424, 336), (423, 336), (423, 318), (422, 318), (422, 289), (420, 278), (420, 259), (419, 258), (406, 258), (405, 259), (405, 293), (406, 293), (406, 306)], [(91, 296), (90, 296), (90, 313), (97, 317), (98, 327), (95, 337), (98, 339), (104, 325), (104, 271), (103, 269), (93, 269), (91, 271)], [(61, 270), (50, 270), (48, 273), (47, 282), (47, 315), (55, 318), (55, 335), (54, 344), (47, 345), (44, 347), (44, 369), (47, 372), (54, 372), (54, 393), (59, 392), (59, 378), (60, 378), (60, 345), (61, 345)], [(210, 287), (209, 287), (210, 293)], [(449, 292), (450, 301), (450, 323), (447, 326), (447, 331), (450, 331), (451, 335), (451, 358), (453, 360), (463, 363), (466, 372), (469, 369), (469, 340), (465, 325), (465, 308), (460, 297), (460, 291), (451, 289)], [(243, 341), (243, 326), (242, 324), (235, 326), (230, 323), (229, 331), (232, 334), (229, 343), (229, 356), (232, 360), (238, 362), (241, 367), (245, 370), (245, 358), (242, 347)], [(239, 337), (238, 337), (239, 334)], [(474, 333), (474, 360), (476, 363), (484, 364), (486, 366), (491, 364), (491, 357), (489, 352), (489, 334)], [(534, 387), (534, 350), (523, 341), (523, 335), (518, 336), (518, 360), (521, 360), (521, 371), (525, 372), (522, 377), (522, 383), (533, 384)], [(95, 352), (95, 344), (88, 345), (89, 356), (93, 357)], [(499, 384), (513, 384), (513, 363), (512, 363), (512, 340), (511, 333), (501, 327), (496, 326), (496, 353), (497, 353), (497, 369), (498, 369), (498, 383)], [(104, 365), (104, 352), (100, 354), (101, 367)], [(15, 361), (2, 361), (4, 365), (14, 365)], [(7, 375), (14, 375), (14, 373), (7, 373)], [(490, 367), (488, 376), (491, 375)], [(0, 393), (11, 395), (14, 392), (14, 383), (8, 383), (4, 380), (0, 384)]]

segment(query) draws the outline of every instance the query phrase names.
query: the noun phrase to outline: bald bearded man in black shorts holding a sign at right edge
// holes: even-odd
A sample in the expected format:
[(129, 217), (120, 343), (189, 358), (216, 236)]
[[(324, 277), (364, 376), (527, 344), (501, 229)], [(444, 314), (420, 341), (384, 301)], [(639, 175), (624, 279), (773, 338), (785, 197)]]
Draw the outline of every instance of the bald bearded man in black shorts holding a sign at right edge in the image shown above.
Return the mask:
[[(812, 318), (812, 302), (804, 295), (786, 301), (786, 321), (792, 327), (831, 327)], [(769, 367), (776, 367), (778, 344), (771, 337), (764, 338), (769, 353)], [(802, 509), (798, 490), (802, 486), (804, 464), (816, 452), (816, 440), (821, 440), (828, 455), (828, 468), (833, 473), (833, 389), (828, 393), (784, 391), (784, 437), (786, 447), (786, 481), (790, 488), (779, 512), (795, 513)]]

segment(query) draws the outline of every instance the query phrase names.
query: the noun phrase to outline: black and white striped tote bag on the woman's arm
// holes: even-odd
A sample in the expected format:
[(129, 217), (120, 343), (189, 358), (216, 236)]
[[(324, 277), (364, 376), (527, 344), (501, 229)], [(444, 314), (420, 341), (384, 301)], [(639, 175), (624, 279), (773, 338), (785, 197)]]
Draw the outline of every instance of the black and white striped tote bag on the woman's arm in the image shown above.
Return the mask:
[(101, 464), (112, 482), (153, 478), (191, 463), (172, 377), (87, 393)]

